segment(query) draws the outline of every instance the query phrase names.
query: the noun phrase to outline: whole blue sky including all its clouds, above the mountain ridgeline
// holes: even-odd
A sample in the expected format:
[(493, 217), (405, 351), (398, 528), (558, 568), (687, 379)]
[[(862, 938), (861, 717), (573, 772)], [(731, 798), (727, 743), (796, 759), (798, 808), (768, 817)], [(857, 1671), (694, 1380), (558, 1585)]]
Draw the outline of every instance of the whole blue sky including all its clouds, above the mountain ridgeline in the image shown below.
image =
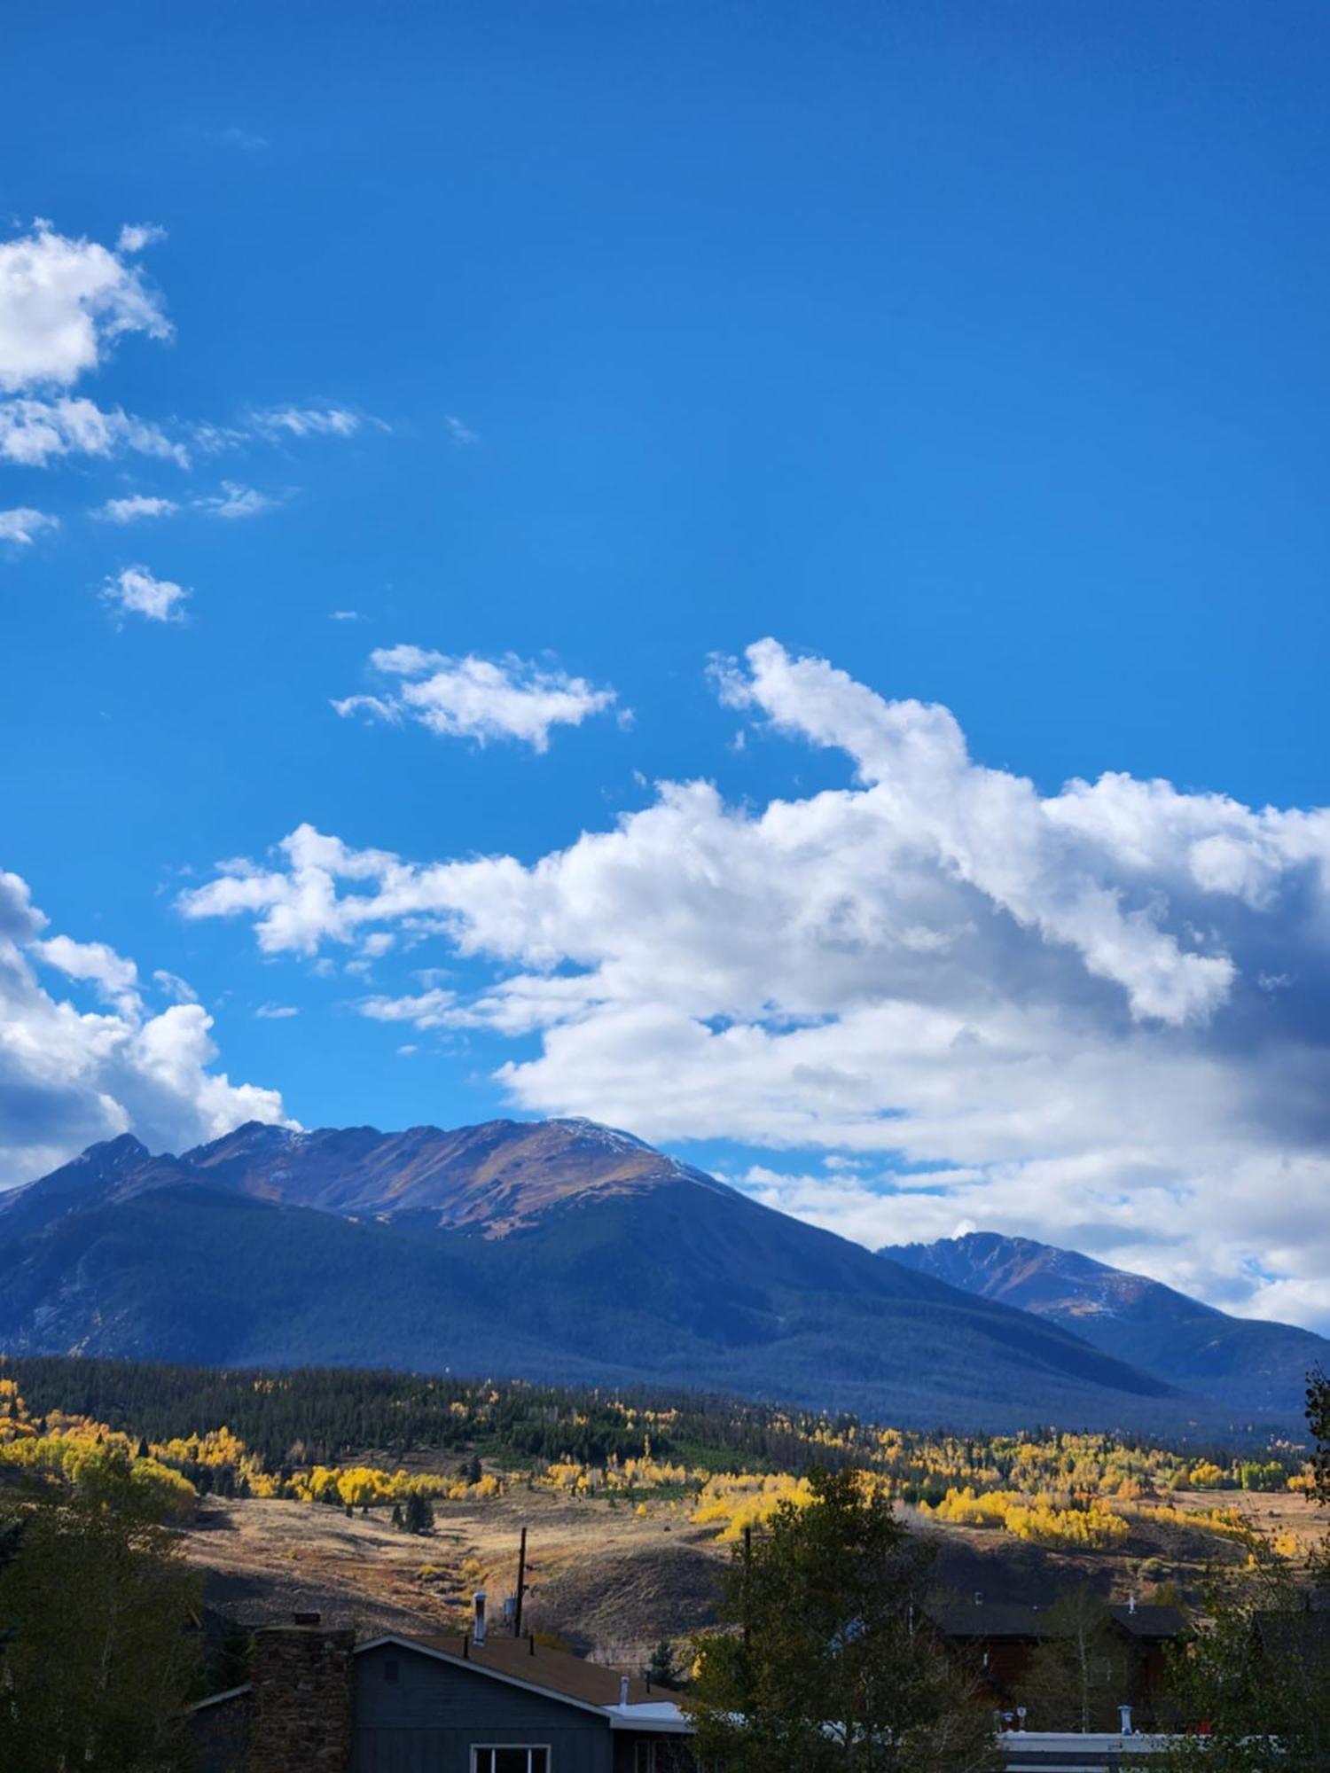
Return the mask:
[[(5, 1179), (580, 1112), (865, 1241), (1330, 1317), (1328, 50), (1222, 4), (11, 21)], [(367, 851), (511, 860), (399, 902)]]

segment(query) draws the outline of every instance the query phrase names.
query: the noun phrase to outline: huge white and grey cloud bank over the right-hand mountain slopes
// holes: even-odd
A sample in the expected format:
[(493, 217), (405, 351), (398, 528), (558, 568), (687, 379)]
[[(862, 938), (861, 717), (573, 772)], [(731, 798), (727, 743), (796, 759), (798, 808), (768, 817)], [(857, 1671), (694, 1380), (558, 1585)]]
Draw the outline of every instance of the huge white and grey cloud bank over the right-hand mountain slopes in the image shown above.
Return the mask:
[(1041, 794), (975, 762), (947, 709), (770, 640), (715, 676), (755, 725), (841, 754), (846, 785), (754, 808), (667, 782), (534, 863), (301, 826), (183, 910), (252, 918), (266, 954), (433, 936), (481, 989), (367, 1016), (537, 1037), (498, 1073), (528, 1112), (862, 1160), (748, 1186), (864, 1241), (968, 1220), (1310, 1316), (1330, 812), (1121, 773)]

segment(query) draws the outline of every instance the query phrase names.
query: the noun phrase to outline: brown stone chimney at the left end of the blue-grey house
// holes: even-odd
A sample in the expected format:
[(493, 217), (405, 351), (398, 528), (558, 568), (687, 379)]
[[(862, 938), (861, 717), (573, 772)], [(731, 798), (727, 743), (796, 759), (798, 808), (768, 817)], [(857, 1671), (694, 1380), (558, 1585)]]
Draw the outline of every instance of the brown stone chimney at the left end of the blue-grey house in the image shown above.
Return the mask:
[(317, 1613), (255, 1635), (246, 1773), (348, 1773), (353, 1647)]

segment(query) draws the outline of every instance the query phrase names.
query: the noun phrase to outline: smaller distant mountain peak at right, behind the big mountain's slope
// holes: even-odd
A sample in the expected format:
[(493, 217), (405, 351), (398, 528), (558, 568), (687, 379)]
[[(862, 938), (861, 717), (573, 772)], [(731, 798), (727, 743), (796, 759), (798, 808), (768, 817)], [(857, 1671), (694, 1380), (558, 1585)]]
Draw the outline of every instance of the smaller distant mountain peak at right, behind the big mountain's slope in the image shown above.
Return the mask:
[(1030, 1238), (968, 1232), (880, 1255), (1062, 1324), (1094, 1347), (1231, 1410), (1300, 1422), (1307, 1371), (1330, 1342), (1295, 1324), (1231, 1317), (1185, 1293)]

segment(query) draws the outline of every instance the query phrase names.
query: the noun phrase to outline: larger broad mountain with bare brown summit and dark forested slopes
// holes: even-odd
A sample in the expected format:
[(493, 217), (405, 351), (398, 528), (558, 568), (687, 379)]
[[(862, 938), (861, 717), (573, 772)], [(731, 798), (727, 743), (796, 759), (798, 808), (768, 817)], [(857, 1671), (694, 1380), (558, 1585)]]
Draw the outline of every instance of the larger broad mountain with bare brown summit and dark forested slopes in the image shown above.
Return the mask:
[(94, 1145), (0, 1197), (0, 1349), (688, 1386), (919, 1425), (1218, 1425), (1059, 1324), (587, 1121)]

